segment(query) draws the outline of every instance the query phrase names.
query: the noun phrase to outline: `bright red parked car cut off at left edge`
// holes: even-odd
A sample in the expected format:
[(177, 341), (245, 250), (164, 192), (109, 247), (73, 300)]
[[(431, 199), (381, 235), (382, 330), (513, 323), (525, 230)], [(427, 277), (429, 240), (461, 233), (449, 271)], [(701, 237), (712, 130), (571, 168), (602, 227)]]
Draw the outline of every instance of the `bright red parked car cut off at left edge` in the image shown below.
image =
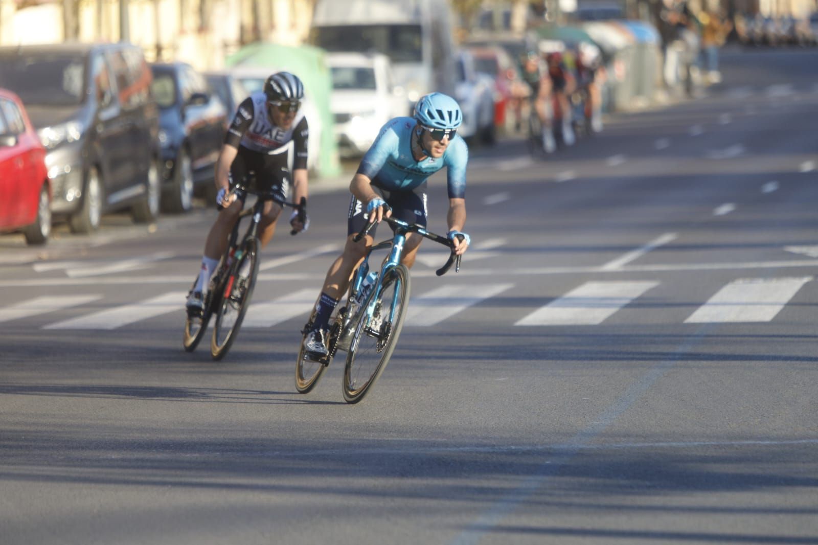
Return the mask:
[(20, 98), (0, 89), (0, 231), (22, 231), (29, 244), (51, 232), (46, 149)]

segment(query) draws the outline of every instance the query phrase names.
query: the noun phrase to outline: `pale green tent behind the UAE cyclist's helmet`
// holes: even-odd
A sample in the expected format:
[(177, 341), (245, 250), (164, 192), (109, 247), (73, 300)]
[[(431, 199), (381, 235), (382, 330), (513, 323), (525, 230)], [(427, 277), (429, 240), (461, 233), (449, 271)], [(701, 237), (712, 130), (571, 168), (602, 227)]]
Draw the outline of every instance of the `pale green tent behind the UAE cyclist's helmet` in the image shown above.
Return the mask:
[(299, 76), (320, 117), (321, 146), (317, 164), (318, 175), (329, 177), (340, 173), (338, 146), (333, 130), (335, 119), (330, 112), (332, 78), (324, 62), (323, 49), (312, 46), (290, 47), (278, 43), (250, 43), (228, 56), (225, 65), (286, 70)]

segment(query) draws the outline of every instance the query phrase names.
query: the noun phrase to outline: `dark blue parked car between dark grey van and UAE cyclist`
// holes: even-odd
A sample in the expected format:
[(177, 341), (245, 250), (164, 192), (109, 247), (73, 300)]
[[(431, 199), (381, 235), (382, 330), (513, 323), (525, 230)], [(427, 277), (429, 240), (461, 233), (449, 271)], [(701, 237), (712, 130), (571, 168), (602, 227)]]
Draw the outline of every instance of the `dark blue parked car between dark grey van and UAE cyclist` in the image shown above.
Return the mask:
[(162, 205), (172, 212), (187, 212), (195, 189), (215, 200), (214, 167), (227, 132), (227, 110), (191, 65), (157, 63), (151, 71), (160, 108)]

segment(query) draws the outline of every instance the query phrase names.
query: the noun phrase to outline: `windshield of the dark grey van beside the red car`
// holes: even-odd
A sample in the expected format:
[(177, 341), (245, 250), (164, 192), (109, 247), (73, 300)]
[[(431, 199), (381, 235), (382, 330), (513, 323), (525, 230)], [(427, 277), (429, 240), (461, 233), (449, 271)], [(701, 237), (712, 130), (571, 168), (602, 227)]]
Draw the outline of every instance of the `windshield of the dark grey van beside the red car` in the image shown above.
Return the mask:
[(25, 104), (77, 106), (85, 91), (85, 62), (70, 53), (0, 56), (0, 82)]

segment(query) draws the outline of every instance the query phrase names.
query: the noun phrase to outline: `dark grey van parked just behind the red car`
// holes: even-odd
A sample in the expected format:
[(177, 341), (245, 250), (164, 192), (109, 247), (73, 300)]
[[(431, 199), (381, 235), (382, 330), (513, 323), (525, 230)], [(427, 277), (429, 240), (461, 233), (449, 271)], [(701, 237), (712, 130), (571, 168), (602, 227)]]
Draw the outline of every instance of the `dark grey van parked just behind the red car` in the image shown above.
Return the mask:
[(127, 43), (0, 47), (0, 82), (16, 92), (47, 148), (52, 212), (73, 232), (101, 214), (159, 213), (159, 115), (142, 49)]

